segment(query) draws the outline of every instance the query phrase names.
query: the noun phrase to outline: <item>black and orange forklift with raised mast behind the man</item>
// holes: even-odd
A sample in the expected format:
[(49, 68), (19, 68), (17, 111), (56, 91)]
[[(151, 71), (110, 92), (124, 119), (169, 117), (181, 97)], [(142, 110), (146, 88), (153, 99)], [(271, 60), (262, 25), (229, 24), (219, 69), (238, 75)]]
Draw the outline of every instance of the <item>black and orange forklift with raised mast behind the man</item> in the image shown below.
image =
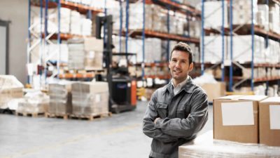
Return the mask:
[[(104, 29), (103, 63), (106, 77), (96, 76), (97, 81), (109, 84), (109, 111), (113, 113), (134, 110), (137, 106), (137, 81), (130, 76), (127, 67), (113, 67), (113, 55), (135, 55), (132, 53), (113, 53), (113, 20), (112, 15), (96, 17), (96, 38), (102, 39)], [(128, 63), (128, 61), (127, 61)]]

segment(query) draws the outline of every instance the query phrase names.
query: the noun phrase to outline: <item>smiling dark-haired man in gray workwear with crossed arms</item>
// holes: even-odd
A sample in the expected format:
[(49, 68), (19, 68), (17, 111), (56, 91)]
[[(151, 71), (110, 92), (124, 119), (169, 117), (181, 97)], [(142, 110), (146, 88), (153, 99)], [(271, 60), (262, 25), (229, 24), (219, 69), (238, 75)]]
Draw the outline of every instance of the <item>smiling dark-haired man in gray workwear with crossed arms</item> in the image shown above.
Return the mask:
[(188, 44), (174, 46), (169, 69), (172, 80), (151, 97), (143, 132), (153, 138), (150, 157), (176, 158), (179, 146), (193, 140), (208, 119), (207, 95), (193, 84), (193, 53)]

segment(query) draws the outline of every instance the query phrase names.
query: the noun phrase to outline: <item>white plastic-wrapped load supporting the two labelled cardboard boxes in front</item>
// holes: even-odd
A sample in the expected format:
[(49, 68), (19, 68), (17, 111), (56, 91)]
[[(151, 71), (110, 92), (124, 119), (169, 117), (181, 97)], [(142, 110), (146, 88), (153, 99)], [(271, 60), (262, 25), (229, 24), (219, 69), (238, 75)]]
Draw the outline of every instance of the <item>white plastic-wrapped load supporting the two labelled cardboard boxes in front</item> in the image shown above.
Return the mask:
[(186, 157), (280, 157), (280, 147), (213, 140), (208, 131), (179, 147), (179, 158)]

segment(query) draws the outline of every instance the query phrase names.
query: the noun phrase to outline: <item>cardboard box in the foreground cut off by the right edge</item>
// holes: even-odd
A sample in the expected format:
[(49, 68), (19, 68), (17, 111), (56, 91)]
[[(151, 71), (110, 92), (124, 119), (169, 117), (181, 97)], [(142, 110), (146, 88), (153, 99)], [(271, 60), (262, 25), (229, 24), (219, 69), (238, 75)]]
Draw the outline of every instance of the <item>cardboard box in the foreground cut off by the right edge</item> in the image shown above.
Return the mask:
[(280, 97), (260, 102), (260, 143), (280, 146)]

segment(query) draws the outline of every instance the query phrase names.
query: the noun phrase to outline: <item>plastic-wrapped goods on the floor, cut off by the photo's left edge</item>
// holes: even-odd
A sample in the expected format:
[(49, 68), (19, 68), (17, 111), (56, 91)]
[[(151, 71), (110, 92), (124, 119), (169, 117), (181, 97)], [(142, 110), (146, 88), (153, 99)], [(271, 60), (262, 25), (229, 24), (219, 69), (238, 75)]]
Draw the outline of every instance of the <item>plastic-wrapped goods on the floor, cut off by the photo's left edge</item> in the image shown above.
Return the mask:
[(23, 85), (12, 75), (0, 75), (0, 109), (6, 109), (15, 98), (22, 98)]

